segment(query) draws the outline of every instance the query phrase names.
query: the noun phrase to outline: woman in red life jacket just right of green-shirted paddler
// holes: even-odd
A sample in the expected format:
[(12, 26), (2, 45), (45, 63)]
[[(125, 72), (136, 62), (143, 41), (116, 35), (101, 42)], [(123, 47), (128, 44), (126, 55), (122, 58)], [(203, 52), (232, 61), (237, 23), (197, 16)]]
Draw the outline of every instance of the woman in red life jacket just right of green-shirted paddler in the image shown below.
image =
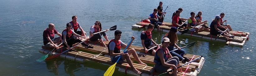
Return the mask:
[(205, 29), (210, 29), (210, 27), (208, 27), (208, 22), (207, 22), (208, 20), (202, 21), (201, 15), (202, 15), (202, 12), (199, 11), (199, 12), (197, 13), (197, 15), (195, 16), (197, 22), (198, 22), (198, 23), (205, 23), (205, 24), (202, 25), (202, 26), (203, 26)]

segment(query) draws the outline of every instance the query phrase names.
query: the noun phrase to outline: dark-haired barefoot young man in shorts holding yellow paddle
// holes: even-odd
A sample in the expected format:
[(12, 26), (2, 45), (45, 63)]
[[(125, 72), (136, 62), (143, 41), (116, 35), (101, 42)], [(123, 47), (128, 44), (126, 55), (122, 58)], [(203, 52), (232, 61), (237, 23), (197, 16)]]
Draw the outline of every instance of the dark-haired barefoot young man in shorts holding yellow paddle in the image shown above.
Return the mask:
[(116, 62), (118, 60), (118, 58), (121, 56), (120, 60), (117, 63), (121, 63), (123, 62), (125, 59), (127, 61), (127, 63), (131, 66), (132, 71), (136, 74), (141, 74), (140, 71), (138, 71), (132, 64), (132, 61), (130, 59), (130, 55), (132, 54), (132, 56), (135, 58), (136, 61), (139, 62), (139, 64), (141, 65), (147, 65), (145, 63), (143, 63), (142, 61), (140, 61), (138, 54), (136, 53), (135, 49), (129, 49), (126, 50), (125, 52), (120, 52), (121, 47), (126, 47), (127, 48), (130, 47), (132, 41), (135, 39), (134, 36), (132, 36), (132, 41), (129, 45), (126, 45), (125, 43), (123, 43), (120, 38), (121, 38), (121, 34), (122, 32), (120, 30), (116, 30), (115, 31), (115, 38), (110, 40), (107, 48), (108, 48), (108, 54), (110, 55), (111, 61), (112, 62)]

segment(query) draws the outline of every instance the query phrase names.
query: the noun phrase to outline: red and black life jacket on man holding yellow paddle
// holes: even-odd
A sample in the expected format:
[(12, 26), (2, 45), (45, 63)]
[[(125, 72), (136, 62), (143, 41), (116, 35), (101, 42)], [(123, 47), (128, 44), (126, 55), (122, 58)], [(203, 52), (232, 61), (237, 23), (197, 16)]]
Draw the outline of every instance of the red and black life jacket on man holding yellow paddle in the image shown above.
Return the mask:
[[(116, 42), (116, 40), (111, 39), (111, 40), (109, 41), (109, 43), (112, 42), (112, 41), (114, 41), (115, 44), (116, 44), (113, 53), (120, 53), (120, 49), (121, 49), (121, 42), (120, 42), (120, 40), (118, 40), (118, 42)], [(109, 44), (107, 45), (107, 48), (108, 48), (108, 55), (110, 55), (110, 53), (109, 53), (109, 51), (110, 51), (110, 49), (109, 49)]]

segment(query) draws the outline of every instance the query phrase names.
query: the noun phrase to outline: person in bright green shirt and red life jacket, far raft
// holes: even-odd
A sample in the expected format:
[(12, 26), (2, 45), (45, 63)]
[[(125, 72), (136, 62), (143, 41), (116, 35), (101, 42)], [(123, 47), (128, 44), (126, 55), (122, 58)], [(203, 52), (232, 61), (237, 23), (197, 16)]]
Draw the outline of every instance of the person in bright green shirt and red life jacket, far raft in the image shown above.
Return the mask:
[(193, 29), (189, 30), (191, 32), (196, 31), (197, 33), (201, 30), (203, 30), (202, 26), (198, 26), (196, 27), (197, 24), (203, 24), (205, 25), (205, 23), (198, 23), (197, 20), (194, 18), (195, 17), (195, 12), (191, 12), (190, 13), (191, 17), (188, 19), (187, 21), (187, 27), (191, 27)]

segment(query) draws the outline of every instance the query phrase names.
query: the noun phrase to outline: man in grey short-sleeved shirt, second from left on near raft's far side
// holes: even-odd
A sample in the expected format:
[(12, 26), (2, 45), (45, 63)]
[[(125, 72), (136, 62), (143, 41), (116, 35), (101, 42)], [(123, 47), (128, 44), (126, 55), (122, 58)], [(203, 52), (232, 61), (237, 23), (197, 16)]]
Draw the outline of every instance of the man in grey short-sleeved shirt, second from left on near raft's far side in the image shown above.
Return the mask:
[[(83, 31), (82, 27), (80, 26), (80, 24), (77, 22), (77, 16), (74, 15), (72, 16), (72, 21), (69, 22), (72, 27), (71, 29), (78, 35), (84, 36), (86, 37), (86, 32)], [(80, 29), (81, 31), (77, 31), (77, 29)], [(83, 33), (82, 33), (83, 32)], [(82, 39), (81, 37), (78, 37), (79, 39)]]

